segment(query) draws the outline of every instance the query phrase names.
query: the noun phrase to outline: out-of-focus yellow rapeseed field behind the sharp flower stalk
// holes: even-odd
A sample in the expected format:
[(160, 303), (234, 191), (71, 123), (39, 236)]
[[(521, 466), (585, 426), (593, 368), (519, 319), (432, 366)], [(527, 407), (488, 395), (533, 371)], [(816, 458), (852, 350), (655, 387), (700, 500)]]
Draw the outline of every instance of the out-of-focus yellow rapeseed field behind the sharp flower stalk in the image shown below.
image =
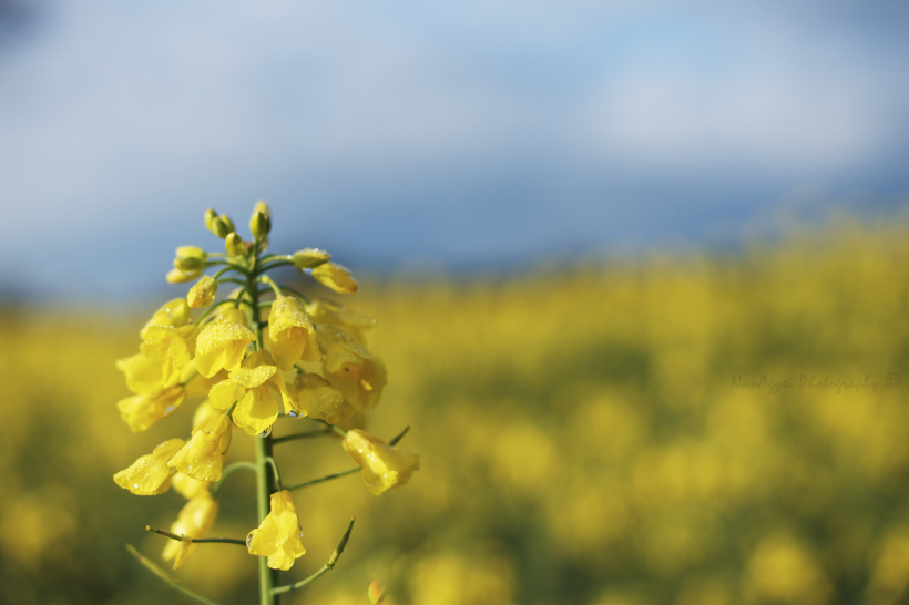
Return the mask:
[[(288, 580), (357, 525), (335, 571), (283, 603), (366, 604), (374, 581), (415, 605), (907, 598), (906, 219), (361, 293), (345, 302), (379, 318), (369, 343), (389, 371), (370, 432), (409, 423), (422, 468), (380, 498), (358, 474), (298, 492), (307, 554)], [(184, 601), (124, 550), (159, 557), (166, 539), (144, 525), (168, 526), (182, 498), (111, 479), (190, 428), (192, 406), (137, 435), (115, 408), (114, 360), (165, 299), (135, 317), (0, 312), (3, 603)], [(252, 449), (236, 434), (229, 458)], [(285, 482), (350, 465), (328, 437), (276, 451), (295, 459)], [(252, 496), (234, 500), (212, 536), (255, 526)], [(255, 573), (244, 548), (203, 544), (174, 575), (231, 605), (254, 602)]]

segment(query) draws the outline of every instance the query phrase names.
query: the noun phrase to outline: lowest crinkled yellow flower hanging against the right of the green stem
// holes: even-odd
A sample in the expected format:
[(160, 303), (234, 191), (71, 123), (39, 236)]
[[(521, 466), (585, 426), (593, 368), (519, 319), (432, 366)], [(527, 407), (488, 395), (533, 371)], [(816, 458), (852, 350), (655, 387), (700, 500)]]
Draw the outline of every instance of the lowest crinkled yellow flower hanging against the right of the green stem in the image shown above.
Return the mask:
[(306, 554), (302, 536), (297, 505), (290, 492), (285, 490), (272, 494), (272, 512), (246, 536), (246, 546), (249, 554), (267, 556), (273, 570), (286, 572), (294, 561)]

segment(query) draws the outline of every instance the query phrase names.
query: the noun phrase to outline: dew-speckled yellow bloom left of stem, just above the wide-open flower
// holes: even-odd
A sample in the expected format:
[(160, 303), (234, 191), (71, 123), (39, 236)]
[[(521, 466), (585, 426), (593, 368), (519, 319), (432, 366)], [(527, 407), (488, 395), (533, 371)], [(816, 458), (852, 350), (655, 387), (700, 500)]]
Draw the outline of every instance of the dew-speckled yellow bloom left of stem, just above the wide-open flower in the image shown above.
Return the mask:
[(198, 373), (212, 378), (222, 368), (235, 369), (255, 339), (246, 322), (246, 314), (234, 308), (222, 310), (196, 339)]

